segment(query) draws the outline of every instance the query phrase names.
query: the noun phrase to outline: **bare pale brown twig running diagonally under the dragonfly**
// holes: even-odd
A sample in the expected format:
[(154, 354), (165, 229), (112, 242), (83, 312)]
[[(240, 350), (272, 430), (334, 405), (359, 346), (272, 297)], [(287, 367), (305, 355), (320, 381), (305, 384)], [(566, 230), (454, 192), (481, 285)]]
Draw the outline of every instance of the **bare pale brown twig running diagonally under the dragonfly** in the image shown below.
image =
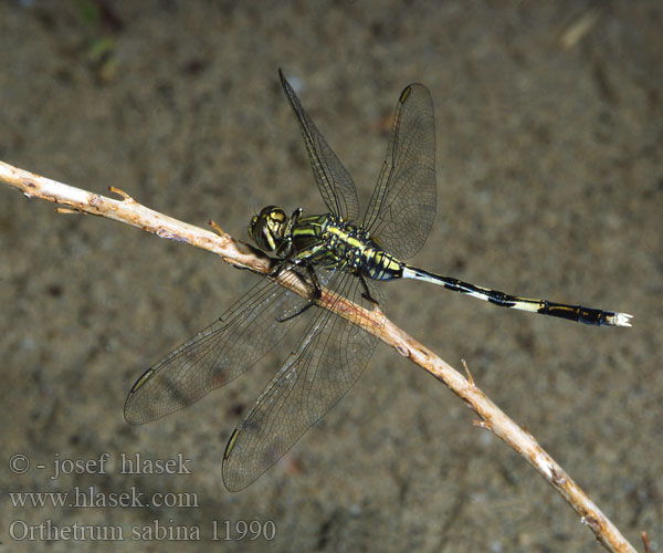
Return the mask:
[[(63, 185), (2, 161), (0, 161), (0, 180), (18, 188), (29, 198), (41, 198), (64, 206), (65, 212), (81, 211), (133, 225), (158, 237), (209, 250), (221, 255), (225, 262), (241, 269), (269, 274), (272, 268), (272, 261), (267, 255), (232, 239), (215, 223), (212, 223), (215, 233), (193, 227), (148, 209), (126, 192), (113, 187), (110, 190), (122, 196), (122, 200)], [(287, 272), (276, 280), (282, 285), (308, 298), (307, 288), (298, 279), (288, 279)], [(481, 420), (476, 425), (492, 431), (523, 456), (567, 500), (580, 515), (580, 521), (591, 529), (608, 551), (635, 552), (612, 522), (564, 469), (544, 451), (534, 437), (509, 419), (475, 386), (473, 380), (467, 380), (433, 352), (401, 331), (385, 317), (379, 309), (367, 311), (346, 299), (332, 296), (330, 292), (325, 291), (318, 303), (337, 315), (359, 324), (367, 332), (379, 337), (402, 356), (408, 357), (449, 386), (480, 417)]]

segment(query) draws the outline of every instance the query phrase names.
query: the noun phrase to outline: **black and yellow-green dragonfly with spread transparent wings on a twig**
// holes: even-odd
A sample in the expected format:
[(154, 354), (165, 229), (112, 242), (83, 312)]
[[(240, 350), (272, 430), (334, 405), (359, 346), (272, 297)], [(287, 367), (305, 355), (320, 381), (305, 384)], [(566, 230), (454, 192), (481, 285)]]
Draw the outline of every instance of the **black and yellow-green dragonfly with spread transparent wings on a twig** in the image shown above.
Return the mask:
[[(272, 273), (136, 380), (125, 405), (129, 424), (156, 420), (198, 401), (255, 365), (293, 327), (303, 328), (298, 344), (225, 447), (225, 487), (246, 488), (352, 387), (376, 348), (377, 338), (359, 321), (324, 309), (323, 290), (332, 292), (327, 301), (345, 298), (381, 312), (386, 300), (379, 281), (415, 279), (503, 307), (630, 326), (631, 315), (625, 313), (509, 295), (404, 263), (421, 249), (435, 217), (435, 128), (429, 90), (410, 84), (400, 94), (386, 159), (360, 219), (352, 178), (281, 70), (278, 75), (328, 212), (305, 215), (297, 208), (287, 216), (267, 206), (253, 216), (249, 236), (275, 255)], [(293, 291), (296, 284), (305, 284), (305, 296)]]

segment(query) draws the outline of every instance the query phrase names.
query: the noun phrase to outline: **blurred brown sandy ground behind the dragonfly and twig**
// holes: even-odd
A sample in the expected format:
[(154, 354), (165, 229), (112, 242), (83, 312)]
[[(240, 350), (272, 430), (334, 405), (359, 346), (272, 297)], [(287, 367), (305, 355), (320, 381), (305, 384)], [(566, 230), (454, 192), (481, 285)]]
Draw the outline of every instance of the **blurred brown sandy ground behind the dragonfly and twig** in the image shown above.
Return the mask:
[[(646, 530), (660, 551), (662, 27), (657, 1), (6, 1), (0, 159), (98, 194), (114, 185), (244, 239), (264, 205), (323, 210), (277, 67), (365, 201), (398, 94), (424, 83), (438, 217), (414, 263), (633, 313), (634, 326), (589, 327), (411, 282), (386, 285), (389, 315), (453, 365), (466, 359), (633, 544)], [(196, 406), (129, 427), (136, 377), (255, 279), (0, 187), (0, 551), (600, 551), (523, 459), (385, 346), (241, 493), (221, 481), (225, 440), (286, 347)], [(136, 452), (181, 455), (191, 474), (122, 473), (122, 455)], [(103, 453), (103, 473), (81, 465)], [(25, 473), (10, 470), (15, 455)], [(9, 495), (76, 487), (107, 500), (187, 493), (197, 507), (29, 508)], [(36, 530), (29, 541), (44, 521), (116, 525), (124, 541), (45, 542)], [(238, 540), (251, 521), (267, 535), (273, 521), (274, 539)], [(177, 536), (188, 540), (159, 540)]]

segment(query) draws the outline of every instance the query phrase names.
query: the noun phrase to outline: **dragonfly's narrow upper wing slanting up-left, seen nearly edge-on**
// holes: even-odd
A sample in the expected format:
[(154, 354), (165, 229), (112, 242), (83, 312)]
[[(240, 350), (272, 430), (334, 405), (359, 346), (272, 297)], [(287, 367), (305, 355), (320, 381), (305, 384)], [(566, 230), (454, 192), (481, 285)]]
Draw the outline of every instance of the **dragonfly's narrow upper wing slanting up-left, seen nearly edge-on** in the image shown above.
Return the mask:
[(299, 122), (313, 175), (327, 208), (346, 221), (357, 220), (359, 217), (359, 200), (357, 199), (357, 189), (352, 177), (315, 127), (281, 70), (278, 70), (278, 76), (285, 95), (290, 100)]

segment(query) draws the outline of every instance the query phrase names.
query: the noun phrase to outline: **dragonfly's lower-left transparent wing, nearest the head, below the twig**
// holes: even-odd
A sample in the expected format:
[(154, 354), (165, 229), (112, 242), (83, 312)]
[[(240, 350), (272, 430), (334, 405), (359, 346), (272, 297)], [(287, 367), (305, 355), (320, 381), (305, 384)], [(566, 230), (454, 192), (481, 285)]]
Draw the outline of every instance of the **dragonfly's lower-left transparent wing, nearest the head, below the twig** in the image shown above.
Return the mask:
[[(302, 279), (291, 272), (286, 278)], [(306, 300), (263, 279), (219, 320), (148, 368), (125, 404), (127, 422), (139, 425), (182, 409), (228, 384), (272, 349), (297, 322)]]

